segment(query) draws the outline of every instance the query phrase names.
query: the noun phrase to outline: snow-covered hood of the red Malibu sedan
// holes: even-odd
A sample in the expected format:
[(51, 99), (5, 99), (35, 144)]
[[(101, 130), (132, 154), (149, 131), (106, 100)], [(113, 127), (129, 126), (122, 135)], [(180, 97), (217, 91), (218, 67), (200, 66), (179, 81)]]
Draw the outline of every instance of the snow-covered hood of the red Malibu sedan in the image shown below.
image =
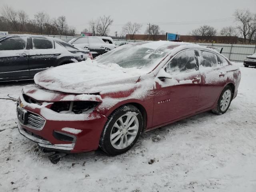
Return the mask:
[(127, 84), (135, 84), (139, 78), (137, 70), (121, 68), (116, 64), (97, 64), (88, 58), (83, 62), (65, 64), (39, 72), (34, 76), (34, 82), (47, 90), (93, 94), (124, 89)]

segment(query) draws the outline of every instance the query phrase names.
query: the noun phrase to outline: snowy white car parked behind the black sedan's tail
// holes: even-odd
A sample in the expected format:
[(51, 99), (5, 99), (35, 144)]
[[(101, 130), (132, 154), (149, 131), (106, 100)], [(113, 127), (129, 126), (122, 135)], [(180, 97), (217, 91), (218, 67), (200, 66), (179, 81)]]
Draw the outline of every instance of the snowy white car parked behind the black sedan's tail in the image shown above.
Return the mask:
[(90, 50), (93, 58), (116, 47), (114, 44), (105, 43), (101, 38), (96, 36), (76, 37), (68, 43), (80, 49)]

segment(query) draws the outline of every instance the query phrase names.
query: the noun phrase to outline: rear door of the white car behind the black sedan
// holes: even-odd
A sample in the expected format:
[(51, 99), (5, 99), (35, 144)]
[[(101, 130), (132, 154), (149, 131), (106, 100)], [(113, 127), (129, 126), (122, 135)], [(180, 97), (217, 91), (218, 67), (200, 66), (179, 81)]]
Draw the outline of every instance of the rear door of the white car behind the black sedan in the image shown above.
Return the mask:
[(105, 51), (105, 45), (106, 43), (97, 37), (89, 37), (89, 50), (94, 55), (101, 55)]

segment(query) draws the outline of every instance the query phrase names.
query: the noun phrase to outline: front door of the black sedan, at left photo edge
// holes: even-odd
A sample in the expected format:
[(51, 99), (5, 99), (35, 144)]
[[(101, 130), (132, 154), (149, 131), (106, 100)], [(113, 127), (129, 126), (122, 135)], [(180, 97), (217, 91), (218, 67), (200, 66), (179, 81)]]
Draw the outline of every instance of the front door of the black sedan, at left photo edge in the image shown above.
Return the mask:
[(29, 76), (27, 37), (17, 36), (0, 42), (0, 80)]

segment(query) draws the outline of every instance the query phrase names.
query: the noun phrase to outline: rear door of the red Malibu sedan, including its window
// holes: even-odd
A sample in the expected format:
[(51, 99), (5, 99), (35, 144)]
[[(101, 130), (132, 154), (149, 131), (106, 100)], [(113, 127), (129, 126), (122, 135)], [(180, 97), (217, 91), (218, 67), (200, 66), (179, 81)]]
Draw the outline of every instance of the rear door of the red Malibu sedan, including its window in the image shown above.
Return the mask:
[(227, 73), (215, 53), (198, 50), (201, 91), (198, 111), (210, 108), (218, 99), (227, 81)]

